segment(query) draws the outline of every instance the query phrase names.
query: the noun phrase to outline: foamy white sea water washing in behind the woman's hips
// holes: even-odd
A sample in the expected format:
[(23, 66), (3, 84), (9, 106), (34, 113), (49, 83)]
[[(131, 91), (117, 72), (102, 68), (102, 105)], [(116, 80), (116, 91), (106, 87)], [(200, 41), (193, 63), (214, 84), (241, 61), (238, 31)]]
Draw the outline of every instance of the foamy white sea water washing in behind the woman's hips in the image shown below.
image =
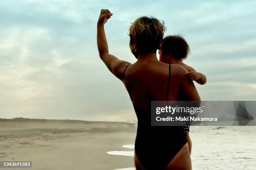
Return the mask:
[[(192, 168), (194, 170), (255, 170), (256, 127), (255, 126), (192, 126)], [(131, 151), (122, 151), (130, 148)], [(120, 150), (109, 151), (111, 155), (134, 155), (134, 144), (120, 146)], [(116, 170), (135, 170), (124, 167)]]

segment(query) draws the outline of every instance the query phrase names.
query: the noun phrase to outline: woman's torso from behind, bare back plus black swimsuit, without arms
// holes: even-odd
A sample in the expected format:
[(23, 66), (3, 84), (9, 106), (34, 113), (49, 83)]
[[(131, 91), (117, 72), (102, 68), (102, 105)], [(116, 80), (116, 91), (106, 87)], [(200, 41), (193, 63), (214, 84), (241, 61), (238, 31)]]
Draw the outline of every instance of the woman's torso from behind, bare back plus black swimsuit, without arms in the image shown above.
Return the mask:
[[(147, 56), (145, 56), (147, 57)], [(125, 69), (125, 86), (138, 118), (135, 153), (145, 168), (164, 169), (187, 143), (180, 126), (151, 126), (153, 100), (177, 100), (183, 72), (179, 65), (167, 65), (143, 58)], [(172, 81), (172, 79), (175, 79)], [(174, 89), (174, 90), (173, 90)], [(164, 150), (159, 146), (166, 146)]]

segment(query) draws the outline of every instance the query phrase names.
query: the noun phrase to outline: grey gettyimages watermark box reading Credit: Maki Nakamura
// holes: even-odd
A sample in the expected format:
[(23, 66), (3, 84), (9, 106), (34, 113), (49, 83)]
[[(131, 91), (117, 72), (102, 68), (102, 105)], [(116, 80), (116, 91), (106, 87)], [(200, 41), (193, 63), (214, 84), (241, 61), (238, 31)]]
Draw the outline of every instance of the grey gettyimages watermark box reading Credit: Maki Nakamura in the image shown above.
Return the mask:
[(152, 101), (152, 126), (256, 125), (256, 101)]

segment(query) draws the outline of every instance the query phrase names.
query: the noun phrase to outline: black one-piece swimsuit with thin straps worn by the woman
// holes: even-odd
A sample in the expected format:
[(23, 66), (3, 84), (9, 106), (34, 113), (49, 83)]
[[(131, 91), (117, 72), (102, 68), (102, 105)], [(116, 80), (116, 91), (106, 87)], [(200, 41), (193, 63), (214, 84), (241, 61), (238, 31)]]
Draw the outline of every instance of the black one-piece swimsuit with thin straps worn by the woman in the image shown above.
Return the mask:
[[(168, 100), (169, 97), (170, 78), (171, 67), (169, 65), (166, 100)], [(130, 95), (126, 78), (125, 86)], [(174, 158), (179, 150), (187, 143), (182, 126), (151, 126), (151, 111), (134, 104), (133, 107), (138, 119), (135, 140), (135, 153), (138, 160), (147, 170), (165, 170), (172, 158)]]

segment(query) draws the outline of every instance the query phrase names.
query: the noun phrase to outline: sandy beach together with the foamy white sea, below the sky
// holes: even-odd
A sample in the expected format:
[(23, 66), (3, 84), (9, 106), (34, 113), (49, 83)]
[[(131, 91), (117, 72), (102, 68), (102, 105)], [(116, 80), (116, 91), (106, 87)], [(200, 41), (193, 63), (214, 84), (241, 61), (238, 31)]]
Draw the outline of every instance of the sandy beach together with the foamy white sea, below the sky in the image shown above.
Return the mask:
[[(23, 170), (132, 170), (136, 128), (127, 122), (0, 119), (0, 161), (32, 161)], [(255, 126), (196, 126), (190, 137), (194, 170), (256, 168)]]

